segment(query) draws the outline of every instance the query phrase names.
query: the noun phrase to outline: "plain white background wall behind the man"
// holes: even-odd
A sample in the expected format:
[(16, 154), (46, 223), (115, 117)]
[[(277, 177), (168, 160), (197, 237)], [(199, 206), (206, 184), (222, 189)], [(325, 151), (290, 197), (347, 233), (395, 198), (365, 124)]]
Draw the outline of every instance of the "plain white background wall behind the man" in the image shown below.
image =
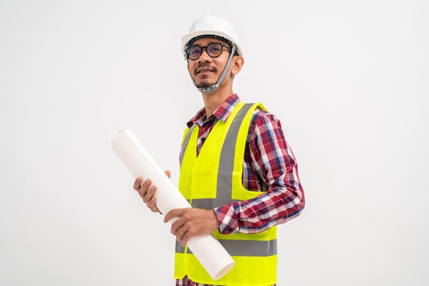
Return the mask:
[(169, 225), (110, 140), (131, 129), (177, 183), (203, 104), (180, 40), (206, 12), (299, 163), (278, 285), (428, 285), (425, 0), (1, 0), (0, 285), (173, 285)]

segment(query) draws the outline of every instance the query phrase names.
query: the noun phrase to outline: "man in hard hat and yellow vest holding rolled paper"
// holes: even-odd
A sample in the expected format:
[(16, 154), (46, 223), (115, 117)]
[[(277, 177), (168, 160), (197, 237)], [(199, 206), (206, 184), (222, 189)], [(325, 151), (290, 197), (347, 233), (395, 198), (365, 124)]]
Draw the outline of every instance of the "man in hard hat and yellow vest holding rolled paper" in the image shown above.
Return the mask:
[[(275, 285), (276, 225), (304, 209), (295, 157), (278, 118), (232, 92), (244, 57), (228, 21), (202, 16), (182, 38), (182, 51), (204, 108), (188, 122), (180, 154), (179, 190), (193, 207), (164, 217), (179, 218), (171, 225), (176, 285)], [(159, 212), (156, 186), (150, 185), (140, 177), (134, 190)], [(191, 237), (210, 233), (236, 262), (218, 281), (186, 247)]]

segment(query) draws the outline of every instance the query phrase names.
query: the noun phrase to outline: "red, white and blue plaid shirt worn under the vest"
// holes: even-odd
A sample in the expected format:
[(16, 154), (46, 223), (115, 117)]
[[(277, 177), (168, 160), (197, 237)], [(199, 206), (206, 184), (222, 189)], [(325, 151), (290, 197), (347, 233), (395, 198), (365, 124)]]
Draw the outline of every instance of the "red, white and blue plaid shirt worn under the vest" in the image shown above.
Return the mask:
[[(188, 122), (188, 127), (194, 124), (199, 127), (197, 155), (216, 122), (225, 122), (239, 101), (233, 94), (210, 118), (206, 119), (203, 108)], [(304, 191), (291, 146), (284, 138), (278, 118), (260, 109), (254, 111), (249, 127), (243, 159), (243, 186), (247, 190), (266, 193), (217, 207), (215, 211), (222, 234), (260, 233), (299, 216), (304, 209)], [(178, 279), (176, 285), (208, 286), (194, 283), (187, 276)]]

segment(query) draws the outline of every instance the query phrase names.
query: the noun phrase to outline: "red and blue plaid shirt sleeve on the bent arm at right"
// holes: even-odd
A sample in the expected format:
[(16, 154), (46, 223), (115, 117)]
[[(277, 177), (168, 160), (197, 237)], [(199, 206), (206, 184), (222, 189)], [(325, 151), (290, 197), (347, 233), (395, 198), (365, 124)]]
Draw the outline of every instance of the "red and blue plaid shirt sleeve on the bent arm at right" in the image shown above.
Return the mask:
[(267, 112), (259, 111), (256, 115), (254, 127), (249, 129), (251, 161), (244, 164), (252, 166), (251, 172), (260, 181), (259, 188), (266, 192), (251, 200), (217, 207), (222, 234), (260, 233), (299, 216), (304, 209), (297, 161), (280, 121)]

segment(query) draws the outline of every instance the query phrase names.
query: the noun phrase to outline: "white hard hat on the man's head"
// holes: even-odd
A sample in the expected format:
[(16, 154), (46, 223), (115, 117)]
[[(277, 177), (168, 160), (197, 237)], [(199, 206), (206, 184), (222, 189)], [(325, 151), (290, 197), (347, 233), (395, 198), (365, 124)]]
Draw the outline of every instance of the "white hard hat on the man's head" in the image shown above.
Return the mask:
[(230, 44), (234, 44), (238, 55), (243, 56), (243, 49), (241, 49), (240, 43), (238, 42), (238, 36), (234, 26), (224, 18), (207, 13), (195, 21), (189, 29), (189, 33), (182, 37), (182, 53), (184, 54), (185, 60), (187, 60), (185, 49), (190, 44), (191, 40), (210, 36), (215, 36), (215, 38), (219, 37), (221, 40), (227, 40), (226, 42), (229, 41)]

